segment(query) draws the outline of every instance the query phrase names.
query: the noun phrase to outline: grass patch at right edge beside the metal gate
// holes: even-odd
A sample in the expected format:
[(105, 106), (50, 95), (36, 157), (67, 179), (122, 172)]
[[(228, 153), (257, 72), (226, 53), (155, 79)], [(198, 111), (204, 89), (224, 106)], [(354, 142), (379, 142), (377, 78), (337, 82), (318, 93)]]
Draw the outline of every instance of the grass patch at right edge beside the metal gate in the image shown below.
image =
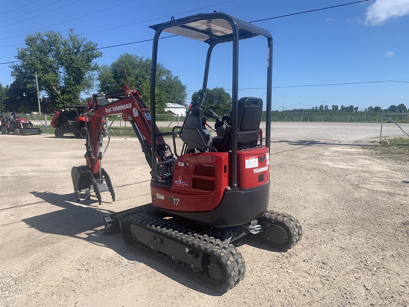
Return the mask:
[(409, 162), (409, 138), (387, 138), (387, 140), (389, 141), (388, 147), (382, 147), (379, 144), (379, 146), (366, 148), (372, 149), (382, 159)]

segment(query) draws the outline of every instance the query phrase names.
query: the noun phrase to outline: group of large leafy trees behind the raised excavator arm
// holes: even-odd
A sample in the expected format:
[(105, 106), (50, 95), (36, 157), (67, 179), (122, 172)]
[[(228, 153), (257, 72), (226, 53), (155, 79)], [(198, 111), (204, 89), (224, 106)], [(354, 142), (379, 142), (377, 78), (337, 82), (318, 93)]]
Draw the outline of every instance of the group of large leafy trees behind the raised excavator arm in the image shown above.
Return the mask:
[[(46, 31), (28, 34), (26, 47), (17, 48), (16, 62), (10, 65), (14, 81), (0, 83), (0, 105), (14, 105), (19, 112), (38, 111), (37, 74), (41, 98), (41, 112), (51, 113), (64, 104), (83, 104), (81, 97), (99, 92), (120, 89), (124, 84), (137, 89), (150, 104), (149, 58), (122, 54), (109, 65), (98, 65), (102, 56), (97, 43), (83, 38), (70, 29), (68, 37), (60, 32)], [(156, 108), (163, 112), (168, 102), (185, 105), (187, 86), (163, 64), (156, 70)]]

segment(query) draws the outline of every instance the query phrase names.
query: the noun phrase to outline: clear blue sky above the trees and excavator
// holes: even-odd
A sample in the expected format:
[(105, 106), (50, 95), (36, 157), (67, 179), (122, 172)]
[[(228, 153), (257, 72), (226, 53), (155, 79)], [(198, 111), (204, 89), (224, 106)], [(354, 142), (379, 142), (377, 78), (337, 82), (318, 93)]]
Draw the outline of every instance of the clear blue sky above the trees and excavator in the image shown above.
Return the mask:
[[(69, 29), (74, 28), (76, 33), (97, 42), (98, 47), (106, 47), (151, 39), (154, 31), (149, 26), (168, 21), (171, 16), (181, 18), (217, 10), (253, 21), (350, 2), (354, 1), (3, 2), (0, 10), (0, 62), (15, 59), (16, 48), (24, 47), (19, 44), (24, 44), (26, 32), (54, 30), (66, 36)], [(71, 20), (74, 18), (77, 19)], [(133, 25), (128, 26), (130, 24)], [(329, 107), (352, 104), (365, 109), (404, 103), (409, 107), (409, 83), (282, 88), (385, 80), (409, 82), (409, 0), (372, 0), (254, 24), (269, 30), (274, 37), (273, 109), (311, 108), (320, 104)], [(115, 27), (121, 28), (97, 32)], [(205, 45), (183, 37), (160, 41), (158, 60), (187, 85), (190, 91), (187, 103), (193, 91), (200, 89), (202, 84)], [(231, 45), (225, 45), (228, 46), (218, 46), (214, 50), (210, 88), (220, 86), (229, 90), (232, 87)], [(265, 40), (244, 40), (240, 47), (239, 88), (265, 87)], [(103, 49), (102, 52), (103, 56), (97, 59), (99, 64), (110, 64), (123, 53), (151, 57), (152, 42)], [(6, 85), (13, 81), (10, 72), (9, 64), (0, 65), (0, 83)], [(239, 97), (242, 96), (264, 99), (265, 90), (240, 90)]]

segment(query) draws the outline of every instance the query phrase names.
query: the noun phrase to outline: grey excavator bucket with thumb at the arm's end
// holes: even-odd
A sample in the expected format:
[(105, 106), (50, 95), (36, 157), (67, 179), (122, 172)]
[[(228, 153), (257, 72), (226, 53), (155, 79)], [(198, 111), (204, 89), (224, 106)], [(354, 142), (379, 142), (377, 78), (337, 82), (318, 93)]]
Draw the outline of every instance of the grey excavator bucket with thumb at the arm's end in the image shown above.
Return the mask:
[(93, 187), (97, 196), (98, 203), (101, 205), (101, 193), (110, 192), (112, 202), (115, 202), (115, 192), (113, 191), (111, 180), (107, 172), (101, 169), (101, 180), (99, 173), (93, 174), (87, 166), (74, 166), (71, 169), (71, 178), (73, 180), (75, 198), (81, 199), (81, 192), (85, 191), (86, 199), (90, 199), (90, 187)]

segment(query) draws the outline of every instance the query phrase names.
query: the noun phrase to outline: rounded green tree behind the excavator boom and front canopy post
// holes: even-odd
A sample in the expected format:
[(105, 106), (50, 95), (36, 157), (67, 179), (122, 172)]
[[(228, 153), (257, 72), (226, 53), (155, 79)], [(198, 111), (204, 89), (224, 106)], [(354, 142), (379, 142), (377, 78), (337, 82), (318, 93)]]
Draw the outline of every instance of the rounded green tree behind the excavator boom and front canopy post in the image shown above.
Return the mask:
[[(129, 53), (121, 54), (110, 65), (102, 65), (98, 76), (102, 92), (122, 88), (125, 84), (138, 93), (150, 106), (150, 73), (152, 61)], [(156, 65), (156, 112), (163, 112), (168, 102), (185, 105), (186, 85), (163, 64)]]

